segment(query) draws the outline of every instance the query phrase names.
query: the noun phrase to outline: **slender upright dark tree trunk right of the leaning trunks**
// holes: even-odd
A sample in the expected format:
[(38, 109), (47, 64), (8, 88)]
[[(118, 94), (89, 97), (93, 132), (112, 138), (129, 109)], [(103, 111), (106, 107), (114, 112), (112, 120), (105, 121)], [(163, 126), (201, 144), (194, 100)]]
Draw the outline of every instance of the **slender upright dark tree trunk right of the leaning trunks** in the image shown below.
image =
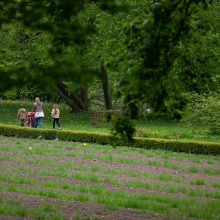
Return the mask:
[(100, 66), (100, 71), (102, 74), (102, 89), (105, 99), (105, 107), (106, 109), (112, 109), (112, 99), (111, 99), (111, 92), (109, 89), (108, 74), (103, 64)]

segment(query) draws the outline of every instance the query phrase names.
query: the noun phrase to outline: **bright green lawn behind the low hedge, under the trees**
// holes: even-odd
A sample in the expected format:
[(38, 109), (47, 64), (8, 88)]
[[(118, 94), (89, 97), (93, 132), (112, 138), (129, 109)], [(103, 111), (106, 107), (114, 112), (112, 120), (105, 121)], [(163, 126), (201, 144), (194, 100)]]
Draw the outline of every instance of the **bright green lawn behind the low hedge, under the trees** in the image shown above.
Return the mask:
[[(7, 102), (0, 101), (0, 123), (19, 125), (19, 120), (16, 119), (16, 114), (19, 108), (19, 101)], [(24, 103), (27, 110), (30, 111), (32, 103)], [(51, 103), (44, 103), (44, 128), (52, 128), (52, 119), (50, 111)], [(61, 105), (61, 126), (63, 129), (78, 130), (78, 131), (96, 131), (99, 133), (110, 133), (111, 124), (102, 123), (97, 127), (93, 127), (90, 122), (92, 113), (72, 113), (70, 109)], [(187, 127), (182, 123), (170, 120), (140, 120), (137, 122), (136, 136), (155, 137), (166, 139), (185, 139), (185, 140), (205, 140), (211, 142), (220, 142), (220, 136), (208, 136), (203, 134), (199, 128)]]

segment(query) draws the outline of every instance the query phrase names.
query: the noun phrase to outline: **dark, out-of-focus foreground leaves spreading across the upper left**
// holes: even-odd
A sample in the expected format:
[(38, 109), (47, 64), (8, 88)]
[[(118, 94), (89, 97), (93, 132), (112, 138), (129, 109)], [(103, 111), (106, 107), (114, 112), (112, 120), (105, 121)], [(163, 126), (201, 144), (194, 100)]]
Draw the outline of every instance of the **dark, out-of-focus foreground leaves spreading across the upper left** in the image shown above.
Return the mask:
[[(116, 5), (111, 1), (95, 1), (103, 10), (111, 11)], [(28, 81), (37, 81), (43, 86), (53, 87), (57, 82), (65, 80), (83, 81), (95, 72), (85, 69), (75, 71), (71, 62), (64, 62), (63, 52), (69, 46), (83, 45), (86, 37), (94, 31), (91, 24), (82, 26), (77, 16), (88, 5), (87, 1), (69, 0), (2, 0), (0, 4), (0, 25), (13, 21), (20, 21), (25, 26), (44, 31), (50, 36), (48, 48), (52, 62), (49, 65), (29, 63), (29, 68), (19, 66), (14, 69), (0, 69), (0, 76), (4, 79), (2, 88)], [(31, 70), (31, 72), (30, 72)], [(3, 77), (4, 76), (4, 77)], [(50, 84), (48, 84), (50, 82)]]

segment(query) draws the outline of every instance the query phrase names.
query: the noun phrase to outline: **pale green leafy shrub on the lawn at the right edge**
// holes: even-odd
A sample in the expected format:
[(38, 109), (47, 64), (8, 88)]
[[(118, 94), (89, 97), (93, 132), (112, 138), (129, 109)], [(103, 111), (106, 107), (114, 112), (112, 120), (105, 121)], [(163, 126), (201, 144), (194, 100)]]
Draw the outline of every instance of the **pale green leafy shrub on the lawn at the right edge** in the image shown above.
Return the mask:
[(219, 94), (189, 95), (183, 121), (200, 127), (204, 133), (220, 134)]

